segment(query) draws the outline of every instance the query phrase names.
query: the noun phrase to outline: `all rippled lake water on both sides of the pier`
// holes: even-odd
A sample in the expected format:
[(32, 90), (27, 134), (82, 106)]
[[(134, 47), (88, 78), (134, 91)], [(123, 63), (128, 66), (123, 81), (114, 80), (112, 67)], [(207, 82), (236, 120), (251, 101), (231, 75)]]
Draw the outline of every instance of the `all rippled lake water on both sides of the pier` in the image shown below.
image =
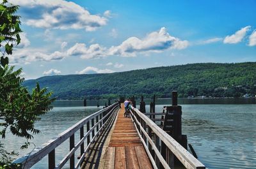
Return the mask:
[[(180, 104), (182, 106), (182, 134), (188, 135), (188, 143), (193, 145), (198, 159), (207, 168), (256, 168), (256, 105), (253, 103), (255, 100), (236, 101), (242, 104), (234, 104), (233, 101), (226, 100), (225, 104), (211, 102), (210, 105)], [(137, 105), (138, 103), (139, 101)], [(168, 105), (170, 99), (162, 101), (158, 99), (157, 103), (163, 105), (156, 105), (156, 112), (162, 112), (163, 106)], [(51, 112), (42, 117), (42, 121), (36, 123), (36, 127), (42, 131), (31, 140), (36, 147), (102, 108), (63, 107), (62, 103), (58, 106), (61, 107), (54, 107)], [(149, 107), (147, 106), (146, 109), (148, 112)], [(6, 136), (6, 139), (1, 140), (6, 143), (8, 149), (19, 151), (20, 156), (33, 149), (31, 145), (29, 149), (20, 151), (19, 147), (25, 141), (10, 134)], [(66, 150), (68, 144), (67, 141), (56, 149), (56, 164), (68, 152)], [(33, 168), (47, 168), (47, 157)]]

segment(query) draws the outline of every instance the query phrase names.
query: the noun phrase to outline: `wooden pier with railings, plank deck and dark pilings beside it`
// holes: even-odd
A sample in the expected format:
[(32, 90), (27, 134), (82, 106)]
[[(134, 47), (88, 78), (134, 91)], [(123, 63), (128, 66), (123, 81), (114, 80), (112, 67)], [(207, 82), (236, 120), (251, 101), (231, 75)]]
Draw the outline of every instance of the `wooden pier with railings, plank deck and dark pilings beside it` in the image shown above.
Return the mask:
[[(164, 107), (166, 112), (160, 113), (155, 112), (155, 98), (150, 104), (150, 113), (146, 113), (142, 97), (142, 112), (133, 104), (129, 110), (131, 117), (124, 117), (123, 104), (120, 108), (118, 103), (113, 103), (13, 163), (19, 163), (26, 169), (48, 156), (49, 169), (67, 168), (68, 161), (72, 169), (170, 169), (180, 168), (180, 165), (189, 169), (205, 169), (187, 151), (186, 135), (181, 133), (182, 112), (177, 105), (177, 92), (173, 92), (173, 96), (172, 106)], [(132, 100), (135, 101), (134, 98)], [(159, 115), (161, 119), (157, 119)], [(156, 124), (157, 121), (161, 124)], [(75, 137), (77, 132), (79, 137)], [(56, 161), (55, 149), (68, 139), (68, 154), (61, 161)]]

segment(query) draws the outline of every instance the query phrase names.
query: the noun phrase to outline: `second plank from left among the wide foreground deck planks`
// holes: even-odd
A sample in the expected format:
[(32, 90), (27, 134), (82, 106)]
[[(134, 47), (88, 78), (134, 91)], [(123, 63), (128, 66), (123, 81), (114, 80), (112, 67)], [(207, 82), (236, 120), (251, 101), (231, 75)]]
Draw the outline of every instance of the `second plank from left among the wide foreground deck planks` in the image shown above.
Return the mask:
[(116, 147), (115, 169), (126, 169), (125, 147)]

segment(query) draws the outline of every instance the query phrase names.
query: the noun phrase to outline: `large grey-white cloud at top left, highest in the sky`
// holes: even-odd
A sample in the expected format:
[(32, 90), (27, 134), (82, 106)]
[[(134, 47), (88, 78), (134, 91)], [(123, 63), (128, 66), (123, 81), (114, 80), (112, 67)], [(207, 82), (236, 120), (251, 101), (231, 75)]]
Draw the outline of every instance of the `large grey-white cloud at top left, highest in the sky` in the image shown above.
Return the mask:
[[(10, 3), (19, 4), (22, 16), (28, 26), (45, 29), (95, 29), (105, 26), (108, 19), (99, 15), (92, 15), (82, 6), (63, 0), (11, 0)], [(105, 11), (106, 16), (110, 11)]]

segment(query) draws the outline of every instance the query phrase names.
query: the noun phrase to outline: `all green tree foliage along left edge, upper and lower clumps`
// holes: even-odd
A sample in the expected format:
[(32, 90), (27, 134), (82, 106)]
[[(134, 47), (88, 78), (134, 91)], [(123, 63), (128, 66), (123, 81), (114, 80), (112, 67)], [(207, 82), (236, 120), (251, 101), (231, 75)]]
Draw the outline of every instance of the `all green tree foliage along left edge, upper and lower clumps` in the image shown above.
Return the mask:
[[(3, 1), (0, 4), (0, 135), (6, 136), (10, 129), (13, 135), (33, 138), (34, 134), (40, 133), (35, 128), (35, 122), (40, 121), (40, 116), (52, 109), (52, 92), (46, 88), (40, 89), (36, 84), (31, 94), (21, 84), (24, 78), (20, 77), (22, 69), (15, 70), (14, 66), (8, 65), (8, 57), (12, 55), (13, 46), (20, 43), (20, 17), (15, 15), (19, 6)], [(30, 143), (26, 142), (23, 148)], [(19, 165), (9, 165), (14, 154), (5, 151), (0, 143), (0, 168), (20, 168)]]

